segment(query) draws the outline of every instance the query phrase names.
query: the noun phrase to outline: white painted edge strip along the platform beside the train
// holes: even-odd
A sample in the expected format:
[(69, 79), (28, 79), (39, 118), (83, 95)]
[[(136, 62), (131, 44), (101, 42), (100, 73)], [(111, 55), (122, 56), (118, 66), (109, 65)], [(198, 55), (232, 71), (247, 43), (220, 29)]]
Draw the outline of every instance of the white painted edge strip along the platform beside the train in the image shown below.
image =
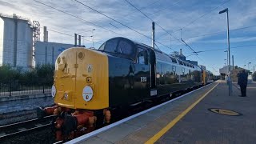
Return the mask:
[[(214, 83), (215, 83), (215, 82), (212, 82), (212, 83), (210, 83), (209, 85), (206, 85), (206, 86), (210, 86), (210, 85), (212, 85), (212, 84), (214, 84)], [(104, 126), (104, 127), (102, 127), (101, 129), (94, 130), (94, 131), (92, 131), (92, 132), (90, 132), (90, 133), (88, 133), (88, 134), (82, 135), (82, 136), (80, 136), (80, 137), (78, 137), (78, 138), (74, 138), (73, 140), (71, 140), (71, 141), (69, 141), (69, 142), (66, 142), (66, 143), (67, 143), (67, 144), (73, 144), (73, 143), (78, 143), (78, 142), (80, 143), (80, 142), (83, 142), (83, 141), (85, 141), (86, 139), (91, 138), (91, 137), (93, 137), (93, 136), (96, 135), (96, 134), (100, 134), (100, 133), (102, 133), (102, 132), (104, 132), (104, 131), (106, 131), (106, 130), (109, 130), (110, 128), (112, 128), (112, 127), (114, 127), (114, 126), (118, 126), (118, 125), (122, 124), (123, 122), (127, 122), (127, 121), (129, 121), (130, 119), (132, 119), (132, 118), (136, 118), (136, 117), (138, 117), (138, 116), (140, 116), (140, 115), (142, 115), (142, 114), (145, 114), (145, 113), (147, 113), (147, 112), (149, 112), (149, 111), (151, 111), (151, 110), (157, 109), (157, 108), (160, 107), (160, 106), (164, 106), (164, 105), (166, 105), (166, 104), (168, 104), (168, 103), (170, 103), (170, 102), (174, 102), (175, 100), (178, 100), (179, 98), (183, 98), (183, 97), (185, 97), (185, 96), (188, 95), (188, 94), (194, 93), (195, 91), (201, 90), (202, 88), (204, 88), (204, 87), (206, 87), (206, 86), (202, 86), (202, 87), (200, 87), (200, 88), (197, 89), (197, 90), (190, 91), (189, 93), (183, 94), (182, 96), (179, 96), (178, 98), (174, 98), (174, 99), (172, 99), (172, 100), (170, 100), (170, 101), (168, 101), (168, 102), (164, 102), (164, 103), (162, 103), (162, 104), (160, 104), (160, 105), (158, 105), (158, 106), (151, 107), (150, 109), (144, 110), (144, 111), (142, 111), (142, 112), (140, 112), (140, 113), (138, 113), (138, 114), (131, 115), (130, 117), (124, 118), (124, 119), (122, 119), (121, 121), (114, 122), (114, 123), (112, 123), (112, 124), (110, 124), (110, 125), (108, 125), (108, 126)]]

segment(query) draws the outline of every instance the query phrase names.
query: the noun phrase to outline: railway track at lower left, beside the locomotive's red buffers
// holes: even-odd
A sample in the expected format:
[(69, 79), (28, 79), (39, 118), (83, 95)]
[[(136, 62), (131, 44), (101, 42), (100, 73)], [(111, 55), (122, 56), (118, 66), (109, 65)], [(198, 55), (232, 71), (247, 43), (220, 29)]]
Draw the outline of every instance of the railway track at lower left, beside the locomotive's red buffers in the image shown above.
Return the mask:
[(0, 139), (9, 138), (17, 134), (24, 134), (33, 130), (39, 130), (50, 127), (50, 123), (54, 116), (46, 116), (44, 118), (34, 118), (28, 121), (17, 122), (6, 126), (0, 126)]

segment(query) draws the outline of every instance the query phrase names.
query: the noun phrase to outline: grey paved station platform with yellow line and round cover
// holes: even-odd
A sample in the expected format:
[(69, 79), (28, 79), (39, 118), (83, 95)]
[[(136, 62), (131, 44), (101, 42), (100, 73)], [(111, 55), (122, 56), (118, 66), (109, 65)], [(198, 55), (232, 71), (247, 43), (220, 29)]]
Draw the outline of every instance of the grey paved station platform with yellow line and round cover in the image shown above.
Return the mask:
[(68, 143), (255, 143), (256, 83), (213, 82)]

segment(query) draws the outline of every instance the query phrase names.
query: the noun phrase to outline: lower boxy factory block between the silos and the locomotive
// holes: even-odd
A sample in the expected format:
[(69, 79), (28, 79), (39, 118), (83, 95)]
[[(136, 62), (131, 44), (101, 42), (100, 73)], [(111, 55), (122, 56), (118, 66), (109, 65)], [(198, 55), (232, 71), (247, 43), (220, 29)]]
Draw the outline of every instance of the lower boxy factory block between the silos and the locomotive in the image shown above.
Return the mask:
[(35, 43), (35, 62), (36, 66), (42, 64), (55, 64), (58, 54), (74, 45), (55, 43), (55, 42), (36, 42)]

